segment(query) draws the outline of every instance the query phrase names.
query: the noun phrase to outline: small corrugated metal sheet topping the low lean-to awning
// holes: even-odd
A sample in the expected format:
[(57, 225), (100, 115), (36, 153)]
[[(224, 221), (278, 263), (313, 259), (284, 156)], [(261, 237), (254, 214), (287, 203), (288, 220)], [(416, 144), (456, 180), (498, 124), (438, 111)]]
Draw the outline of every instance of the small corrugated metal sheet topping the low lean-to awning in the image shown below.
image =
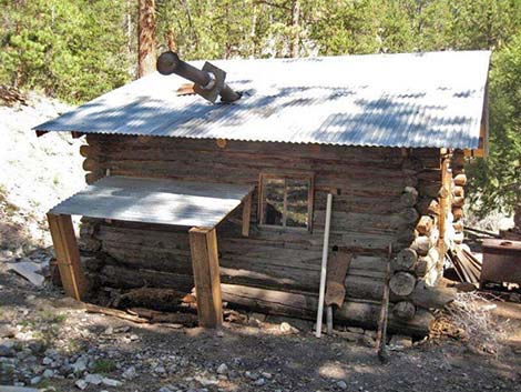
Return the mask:
[(249, 185), (105, 177), (49, 213), (214, 228), (252, 192)]

